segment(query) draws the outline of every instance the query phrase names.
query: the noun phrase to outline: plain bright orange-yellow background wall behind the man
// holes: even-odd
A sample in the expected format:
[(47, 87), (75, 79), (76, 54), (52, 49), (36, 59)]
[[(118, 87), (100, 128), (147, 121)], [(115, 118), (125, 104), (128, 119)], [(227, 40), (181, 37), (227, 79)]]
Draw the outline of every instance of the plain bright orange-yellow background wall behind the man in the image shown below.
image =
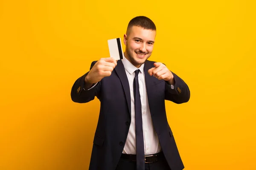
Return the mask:
[(88, 169), (99, 100), (74, 103), (70, 90), (137, 15), (157, 26), (150, 59), (191, 91), (188, 103), (166, 101), (185, 170), (256, 170), (255, 9), (254, 0), (1, 0), (0, 170)]

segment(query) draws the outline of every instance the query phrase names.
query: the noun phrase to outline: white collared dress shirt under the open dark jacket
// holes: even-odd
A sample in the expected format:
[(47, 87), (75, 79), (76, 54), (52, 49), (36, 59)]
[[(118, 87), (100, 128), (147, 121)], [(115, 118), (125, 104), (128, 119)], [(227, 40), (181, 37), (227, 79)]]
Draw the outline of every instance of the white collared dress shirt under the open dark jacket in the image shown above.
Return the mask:
[(134, 107), (134, 90), (133, 82), (135, 77), (135, 70), (140, 69), (138, 79), (140, 87), (140, 100), (142, 109), (142, 122), (143, 122), (143, 136), (144, 136), (144, 150), (145, 155), (159, 153), (161, 146), (157, 137), (157, 133), (154, 130), (151, 114), (148, 106), (148, 95), (145, 85), (144, 64), (140, 68), (135, 67), (125, 57), (122, 59), (122, 63), (125, 67), (125, 72), (130, 85), (131, 93), (131, 126), (129, 128), (127, 140), (122, 153), (136, 155), (136, 133), (135, 133), (135, 107)]

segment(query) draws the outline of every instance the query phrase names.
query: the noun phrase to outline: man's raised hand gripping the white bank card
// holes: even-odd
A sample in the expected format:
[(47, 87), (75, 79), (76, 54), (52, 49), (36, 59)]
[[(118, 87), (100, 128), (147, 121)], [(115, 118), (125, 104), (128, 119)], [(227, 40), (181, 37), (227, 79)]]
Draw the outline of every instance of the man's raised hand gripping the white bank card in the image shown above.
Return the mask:
[(84, 82), (87, 84), (99, 82), (104, 77), (110, 76), (116, 65), (117, 62), (112, 57), (99, 59), (85, 77)]

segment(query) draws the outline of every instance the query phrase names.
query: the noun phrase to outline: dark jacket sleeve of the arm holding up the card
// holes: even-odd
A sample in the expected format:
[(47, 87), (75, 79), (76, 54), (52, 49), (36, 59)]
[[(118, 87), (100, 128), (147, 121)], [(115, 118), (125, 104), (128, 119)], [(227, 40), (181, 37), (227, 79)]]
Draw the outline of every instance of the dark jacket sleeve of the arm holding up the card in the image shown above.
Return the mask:
[[(96, 62), (97, 61), (93, 61), (91, 63), (90, 70), (93, 68), (93, 65)], [(84, 79), (88, 73), (89, 71), (83, 76), (79, 77), (73, 84), (73, 87), (71, 88), (71, 99), (73, 102), (87, 103), (93, 100), (95, 96), (100, 99), (101, 81), (98, 82), (94, 87), (89, 88), (89, 90), (84, 89)]]

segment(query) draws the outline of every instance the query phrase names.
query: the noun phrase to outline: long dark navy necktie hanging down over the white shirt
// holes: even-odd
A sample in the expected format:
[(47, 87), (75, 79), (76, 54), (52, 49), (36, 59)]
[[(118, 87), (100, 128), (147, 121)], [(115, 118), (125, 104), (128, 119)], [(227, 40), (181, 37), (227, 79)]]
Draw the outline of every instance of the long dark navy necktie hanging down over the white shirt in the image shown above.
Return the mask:
[(134, 77), (136, 159), (137, 159), (137, 170), (145, 170), (142, 113), (141, 113), (140, 91), (139, 91), (139, 81), (138, 81), (139, 72), (140, 70), (136, 70), (135, 77)]

